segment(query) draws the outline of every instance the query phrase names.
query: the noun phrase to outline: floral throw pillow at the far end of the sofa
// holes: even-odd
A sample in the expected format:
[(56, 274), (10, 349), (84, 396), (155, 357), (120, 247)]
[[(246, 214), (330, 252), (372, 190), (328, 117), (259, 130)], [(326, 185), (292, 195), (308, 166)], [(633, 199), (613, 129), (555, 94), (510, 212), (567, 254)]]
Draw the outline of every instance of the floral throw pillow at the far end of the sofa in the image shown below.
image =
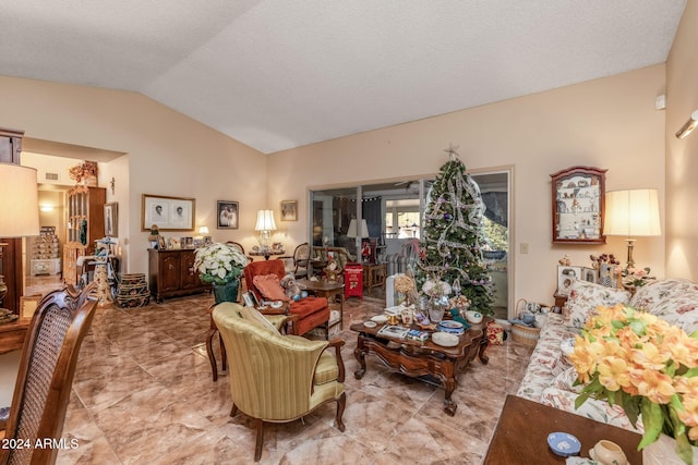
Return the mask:
[(582, 328), (587, 319), (597, 314), (597, 307), (627, 304), (629, 299), (630, 293), (623, 289), (577, 280), (571, 284), (569, 297), (563, 309), (565, 326)]

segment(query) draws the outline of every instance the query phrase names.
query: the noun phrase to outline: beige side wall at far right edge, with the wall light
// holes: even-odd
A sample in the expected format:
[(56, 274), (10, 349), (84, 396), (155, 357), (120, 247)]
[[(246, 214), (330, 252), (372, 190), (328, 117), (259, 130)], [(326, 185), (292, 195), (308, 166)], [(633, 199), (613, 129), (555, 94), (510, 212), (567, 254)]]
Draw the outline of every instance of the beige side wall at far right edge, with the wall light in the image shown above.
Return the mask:
[(698, 280), (698, 131), (674, 134), (698, 110), (698, 3), (689, 1), (666, 61), (666, 272)]

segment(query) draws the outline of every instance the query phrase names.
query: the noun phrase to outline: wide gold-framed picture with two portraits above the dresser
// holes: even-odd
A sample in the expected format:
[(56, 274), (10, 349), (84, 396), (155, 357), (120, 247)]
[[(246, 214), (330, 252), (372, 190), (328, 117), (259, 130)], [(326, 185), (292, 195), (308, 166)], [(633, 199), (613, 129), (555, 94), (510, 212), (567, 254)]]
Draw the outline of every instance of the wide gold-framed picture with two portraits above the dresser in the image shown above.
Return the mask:
[(195, 206), (193, 198), (143, 194), (141, 229), (149, 231), (157, 224), (160, 231), (192, 231)]

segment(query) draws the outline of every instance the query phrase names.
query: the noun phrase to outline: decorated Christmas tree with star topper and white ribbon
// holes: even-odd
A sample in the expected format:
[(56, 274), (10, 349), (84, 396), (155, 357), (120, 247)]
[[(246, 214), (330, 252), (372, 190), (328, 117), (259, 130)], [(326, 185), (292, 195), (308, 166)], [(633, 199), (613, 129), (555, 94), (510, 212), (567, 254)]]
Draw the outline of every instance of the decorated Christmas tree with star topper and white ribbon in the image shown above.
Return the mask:
[(417, 285), (424, 291), (424, 283), (431, 287), (434, 282), (445, 282), (452, 296), (470, 299), (469, 309), (491, 315), (492, 282), (482, 256), (485, 207), (456, 148), (445, 150), (448, 161), (429, 191)]

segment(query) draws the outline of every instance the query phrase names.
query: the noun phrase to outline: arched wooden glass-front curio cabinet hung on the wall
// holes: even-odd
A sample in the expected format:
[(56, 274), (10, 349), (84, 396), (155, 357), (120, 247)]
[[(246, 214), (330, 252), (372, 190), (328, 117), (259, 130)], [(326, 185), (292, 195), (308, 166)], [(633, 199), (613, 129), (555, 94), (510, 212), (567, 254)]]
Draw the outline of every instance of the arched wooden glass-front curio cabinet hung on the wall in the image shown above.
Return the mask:
[(593, 167), (571, 167), (551, 174), (552, 242), (605, 244), (605, 173)]

